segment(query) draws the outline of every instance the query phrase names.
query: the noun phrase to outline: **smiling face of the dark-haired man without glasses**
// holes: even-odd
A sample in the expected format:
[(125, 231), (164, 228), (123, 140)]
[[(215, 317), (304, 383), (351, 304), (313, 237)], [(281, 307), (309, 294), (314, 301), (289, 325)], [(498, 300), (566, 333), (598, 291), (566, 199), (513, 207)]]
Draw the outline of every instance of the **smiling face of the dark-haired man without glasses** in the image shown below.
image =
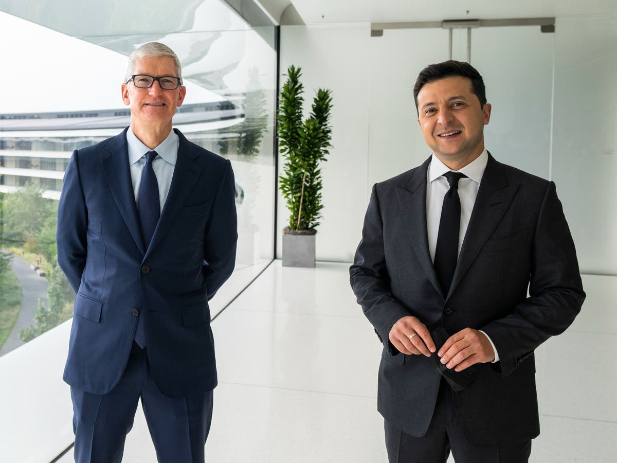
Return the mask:
[(418, 93), (418, 122), (426, 144), (441, 162), (458, 170), (484, 151), (484, 125), (491, 105), (480, 107), (466, 77), (444, 77)]

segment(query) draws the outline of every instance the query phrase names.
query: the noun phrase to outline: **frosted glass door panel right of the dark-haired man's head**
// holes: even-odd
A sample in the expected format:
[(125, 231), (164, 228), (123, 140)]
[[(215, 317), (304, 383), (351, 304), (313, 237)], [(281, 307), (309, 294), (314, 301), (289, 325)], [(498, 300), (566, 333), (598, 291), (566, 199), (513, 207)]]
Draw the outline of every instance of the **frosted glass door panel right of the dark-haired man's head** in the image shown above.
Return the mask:
[(486, 148), (497, 161), (542, 178), (550, 177), (554, 44), (555, 34), (539, 26), (472, 30), (471, 64), (492, 104)]

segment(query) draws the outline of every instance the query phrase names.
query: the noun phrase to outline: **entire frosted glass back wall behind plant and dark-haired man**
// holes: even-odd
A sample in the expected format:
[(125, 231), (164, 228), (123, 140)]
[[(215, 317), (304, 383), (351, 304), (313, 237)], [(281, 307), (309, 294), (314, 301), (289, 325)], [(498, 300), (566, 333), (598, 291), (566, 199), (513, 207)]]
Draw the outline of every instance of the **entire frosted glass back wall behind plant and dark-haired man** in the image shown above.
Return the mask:
[[(555, 180), (582, 272), (610, 275), (617, 274), (615, 21), (557, 19), (554, 33), (471, 32), (471, 64), (492, 104), (487, 148), (498, 161)], [(454, 30), (452, 45), (453, 58), (466, 60), (467, 31)], [(334, 95), (318, 259), (352, 261), (373, 184), (429, 156), (413, 85), (424, 66), (448, 57), (449, 31), (441, 28), (371, 37), (368, 23), (281, 27), (281, 73), (300, 65), (307, 88), (327, 86)], [(286, 220), (281, 204), (278, 217)]]

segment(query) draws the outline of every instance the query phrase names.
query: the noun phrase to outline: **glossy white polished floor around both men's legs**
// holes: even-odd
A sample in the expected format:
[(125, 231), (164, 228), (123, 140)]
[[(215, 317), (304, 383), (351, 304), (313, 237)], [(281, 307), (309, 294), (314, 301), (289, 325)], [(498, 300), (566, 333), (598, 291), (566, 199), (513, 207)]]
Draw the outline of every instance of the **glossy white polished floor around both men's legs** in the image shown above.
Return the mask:
[[(208, 462), (387, 461), (376, 411), (381, 344), (355, 303), (348, 268), (275, 261), (213, 321), (219, 385)], [(583, 278), (581, 315), (537, 349), (542, 432), (531, 462), (615, 461), (617, 277)], [(124, 461), (155, 461), (141, 411)]]

